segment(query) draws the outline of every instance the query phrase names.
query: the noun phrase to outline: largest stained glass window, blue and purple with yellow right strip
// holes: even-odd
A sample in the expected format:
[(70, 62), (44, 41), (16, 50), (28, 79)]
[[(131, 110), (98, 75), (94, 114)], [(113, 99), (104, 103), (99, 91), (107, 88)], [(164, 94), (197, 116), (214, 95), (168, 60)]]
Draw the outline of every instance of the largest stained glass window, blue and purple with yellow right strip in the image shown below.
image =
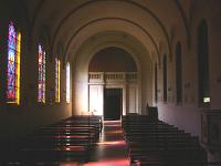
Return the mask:
[(20, 104), (20, 53), (21, 33), (17, 32), (13, 22), (9, 23), (7, 103)]

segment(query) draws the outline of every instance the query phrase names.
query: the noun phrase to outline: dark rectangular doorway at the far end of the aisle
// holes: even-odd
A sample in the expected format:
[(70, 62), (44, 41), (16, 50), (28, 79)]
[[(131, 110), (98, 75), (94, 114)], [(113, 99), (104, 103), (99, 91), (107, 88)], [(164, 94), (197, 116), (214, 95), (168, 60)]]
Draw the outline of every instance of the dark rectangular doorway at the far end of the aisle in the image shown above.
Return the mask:
[(104, 120), (120, 120), (123, 111), (122, 103), (122, 89), (104, 89)]

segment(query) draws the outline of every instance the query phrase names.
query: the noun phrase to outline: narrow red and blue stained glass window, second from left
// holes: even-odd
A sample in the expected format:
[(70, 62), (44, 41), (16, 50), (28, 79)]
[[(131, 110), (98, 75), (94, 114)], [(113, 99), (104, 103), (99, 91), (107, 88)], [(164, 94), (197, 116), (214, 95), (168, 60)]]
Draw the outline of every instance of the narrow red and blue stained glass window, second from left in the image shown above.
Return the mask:
[(45, 51), (41, 44), (39, 44), (38, 102), (45, 103)]

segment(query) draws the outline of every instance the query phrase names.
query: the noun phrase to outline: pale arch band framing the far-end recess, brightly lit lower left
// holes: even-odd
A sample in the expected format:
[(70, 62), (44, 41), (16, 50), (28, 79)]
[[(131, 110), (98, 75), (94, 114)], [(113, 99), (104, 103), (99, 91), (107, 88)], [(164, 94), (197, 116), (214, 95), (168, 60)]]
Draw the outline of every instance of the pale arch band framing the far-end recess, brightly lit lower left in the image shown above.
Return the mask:
[[(108, 35), (113, 37), (113, 32)], [(98, 37), (93, 37), (91, 39), (87, 39), (87, 41), (77, 50), (75, 55), (73, 55), (71, 59), (72, 66), (74, 66), (72, 69), (73, 81), (75, 82), (75, 85), (73, 87), (73, 98), (74, 98), (73, 103), (77, 103), (73, 105), (74, 114), (84, 114), (88, 112), (88, 64), (91, 59), (96, 52), (108, 46), (122, 48), (123, 50), (127, 51), (129, 54), (133, 55), (133, 59), (135, 60), (137, 65), (137, 71), (139, 73), (138, 74), (139, 98), (143, 100), (138, 101), (138, 111), (141, 113), (141, 111), (145, 110), (146, 101), (148, 101), (148, 103), (151, 105), (152, 102), (151, 83), (149, 83), (148, 87), (144, 86), (145, 84), (147, 84), (148, 80), (149, 82), (151, 82), (150, 81), (152, 74), (150, 69), (151, 65), (148, 65), (151, 64), (149, 53), (147, 52), (147, 50), (145, 51), (146, 54), (144, 54), (143, 51), (141, 53), (139, 48), (136, 48), (136, 45), (133, 45), (131, 43), (129, 44), (124, 41), (117, 41), (117, 39), (109, 40), (108, 35), (106, 35), (106, 33), (105, 38), (103, 35), (103, 38), (106, 41), (102, 40), (102, 37), (101, 39), (98, 39)], [(144, 59), (145, 62), (147, 63), (145, 63), (141, 59)], [(147, 71), (145, 75), (143, 74), (144, 71)], [(146, 83), (141, 84), (141, 82)], [(141, 90), (148, 91), (149, 95), (147, 95), (146, 93), (141, 93)]]

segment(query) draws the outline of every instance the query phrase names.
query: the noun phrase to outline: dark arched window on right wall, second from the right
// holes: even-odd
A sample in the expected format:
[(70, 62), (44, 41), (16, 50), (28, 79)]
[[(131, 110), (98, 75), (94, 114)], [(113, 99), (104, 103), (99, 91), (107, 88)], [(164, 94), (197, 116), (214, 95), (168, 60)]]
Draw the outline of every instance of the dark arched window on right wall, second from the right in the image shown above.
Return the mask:
[(177, 43), (176, 48), (176, 89), (177, 103), (182, 102), (182, 60), (181, 60), (181, 43)]

